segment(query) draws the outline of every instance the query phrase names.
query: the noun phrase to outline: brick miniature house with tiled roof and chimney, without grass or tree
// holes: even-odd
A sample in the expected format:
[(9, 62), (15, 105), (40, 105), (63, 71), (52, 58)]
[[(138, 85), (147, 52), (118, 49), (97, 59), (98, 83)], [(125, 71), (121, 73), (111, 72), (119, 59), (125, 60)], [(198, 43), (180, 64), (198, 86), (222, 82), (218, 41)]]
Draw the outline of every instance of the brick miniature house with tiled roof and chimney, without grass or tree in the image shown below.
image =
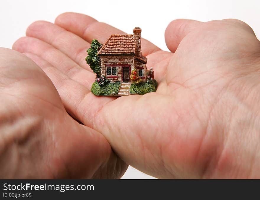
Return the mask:
[(108, 81), (130, 83), (131, 71), (134, 68), (142, 81), (146, 81), (147, 58), (142, 56), (141, 29), (136, 27), (133, 33), (111, 35), (98, 52), (101, 75)]

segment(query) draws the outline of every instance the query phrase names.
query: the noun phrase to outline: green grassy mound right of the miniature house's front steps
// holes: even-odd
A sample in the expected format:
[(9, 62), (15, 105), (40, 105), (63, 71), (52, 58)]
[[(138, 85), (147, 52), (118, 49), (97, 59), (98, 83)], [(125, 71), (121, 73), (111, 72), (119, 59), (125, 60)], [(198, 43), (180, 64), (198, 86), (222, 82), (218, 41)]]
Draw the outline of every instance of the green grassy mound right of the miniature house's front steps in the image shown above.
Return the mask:
[(142, 82), (139, 84), (132, 84), (130, 86), (130, 94), (146, 94), (149, 92), (155, 92), (157, 88), (157, 82), (153, 80), (152, 83)]

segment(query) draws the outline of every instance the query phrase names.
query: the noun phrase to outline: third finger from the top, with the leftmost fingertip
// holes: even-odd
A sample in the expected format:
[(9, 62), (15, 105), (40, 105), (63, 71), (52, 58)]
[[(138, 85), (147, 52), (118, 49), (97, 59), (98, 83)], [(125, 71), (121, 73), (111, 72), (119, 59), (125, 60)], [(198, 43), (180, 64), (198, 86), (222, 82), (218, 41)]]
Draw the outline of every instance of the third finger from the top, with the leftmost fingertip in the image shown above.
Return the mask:
[(53, 67), (57, 68), (69, 78), (79, 82), (90, 90), (95, 74), (81, 68), (77, 63), (61, 53), (58, 49), (33, 37), (22, 37), (17, 40), (13, 49), (20, 53), (33, 53), (40, 56)]

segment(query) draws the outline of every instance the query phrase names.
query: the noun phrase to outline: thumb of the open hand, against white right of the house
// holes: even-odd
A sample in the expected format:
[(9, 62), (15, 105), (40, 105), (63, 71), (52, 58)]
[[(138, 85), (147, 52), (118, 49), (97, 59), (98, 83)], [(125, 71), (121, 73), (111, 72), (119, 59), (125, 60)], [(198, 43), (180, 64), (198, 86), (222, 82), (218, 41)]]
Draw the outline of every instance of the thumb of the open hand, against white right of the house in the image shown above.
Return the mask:
[(171, 52), (175, 52), (181, 40), (203, 22), (190, 19), (176, 19), (165, 30), (165, 42)]

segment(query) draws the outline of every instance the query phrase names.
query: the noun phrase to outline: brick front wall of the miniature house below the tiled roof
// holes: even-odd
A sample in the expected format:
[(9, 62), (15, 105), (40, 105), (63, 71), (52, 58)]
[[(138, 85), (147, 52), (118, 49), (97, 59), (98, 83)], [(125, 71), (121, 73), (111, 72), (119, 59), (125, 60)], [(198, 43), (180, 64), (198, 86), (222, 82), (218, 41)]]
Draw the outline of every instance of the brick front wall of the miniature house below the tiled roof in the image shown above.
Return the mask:
[[(105, 65), (131, 65), (131, 70), (134, 68), (134, 56), (108, 55), (108, 56), (100, 56), (100, 60), (101, 60), (101, 75), (103, 76), (107, 76)], [(117, 67), (117, 75), (115, 75), (115, 77), (112, 78), (107, 78), (111, 82), (122, 81), (122, 67), (121, 66), (116, 66), (116, 67)]]

